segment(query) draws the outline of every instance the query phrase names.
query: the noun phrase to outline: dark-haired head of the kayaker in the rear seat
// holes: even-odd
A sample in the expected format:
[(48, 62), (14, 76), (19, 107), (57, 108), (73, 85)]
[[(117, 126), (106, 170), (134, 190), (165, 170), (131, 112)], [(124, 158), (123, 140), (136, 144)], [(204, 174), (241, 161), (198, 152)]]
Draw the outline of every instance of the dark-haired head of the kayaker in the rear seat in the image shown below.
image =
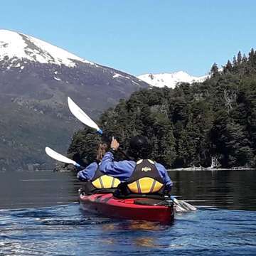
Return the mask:
[(135, 159), (148, 159), (151, 150), (151, 144), (146, 137), (137, 135), (130, 139), (128, 150), (129, 156), (132, 156)]

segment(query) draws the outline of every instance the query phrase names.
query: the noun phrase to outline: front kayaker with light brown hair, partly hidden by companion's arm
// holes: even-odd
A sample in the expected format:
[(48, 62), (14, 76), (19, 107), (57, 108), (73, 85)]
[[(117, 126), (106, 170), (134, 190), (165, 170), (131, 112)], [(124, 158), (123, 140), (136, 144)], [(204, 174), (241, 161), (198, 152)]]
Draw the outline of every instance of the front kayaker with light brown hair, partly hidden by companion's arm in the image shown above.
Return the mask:
[(85, 169), (79, 171), (77, 177), (80, 181), (85, 181), (82, 187), (83, 193), (94, 192), (112, 192), (119, 185), (118, 178), (103, 174), (100, 169), (100, 161), (106, 153), (108, 146), (106, 143), (101, 143), (97, 149), (96, 161), (93, 161)]

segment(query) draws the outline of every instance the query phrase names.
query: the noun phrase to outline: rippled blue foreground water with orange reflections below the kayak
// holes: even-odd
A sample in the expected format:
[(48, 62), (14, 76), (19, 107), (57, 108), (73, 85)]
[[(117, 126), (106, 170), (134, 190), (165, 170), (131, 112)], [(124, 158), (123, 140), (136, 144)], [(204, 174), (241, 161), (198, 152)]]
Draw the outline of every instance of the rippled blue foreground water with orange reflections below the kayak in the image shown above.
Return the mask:
[(200, 208), (172, 225), (110, 220), (78, 203), (0, 212), (0, 255), (253, 255), (256, 212)]

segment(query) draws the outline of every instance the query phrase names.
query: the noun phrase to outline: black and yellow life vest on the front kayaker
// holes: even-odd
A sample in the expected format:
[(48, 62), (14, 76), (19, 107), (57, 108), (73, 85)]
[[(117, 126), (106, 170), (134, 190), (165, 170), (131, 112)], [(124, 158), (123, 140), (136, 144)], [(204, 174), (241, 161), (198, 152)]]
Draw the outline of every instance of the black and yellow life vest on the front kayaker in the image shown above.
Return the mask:
[(85, 193), (92, 193), (94, 191), (98, 192), (111, 192), (114, 191), (115, 188), (119, 185), (120, 181), (118, 178), (114, 178), (112, 176), (108, 176), (103, 174), (99, 166), (95, 171), (95, 176), (93, 176), (91, 181), (87, 181), (83, 186), (83, 191)]

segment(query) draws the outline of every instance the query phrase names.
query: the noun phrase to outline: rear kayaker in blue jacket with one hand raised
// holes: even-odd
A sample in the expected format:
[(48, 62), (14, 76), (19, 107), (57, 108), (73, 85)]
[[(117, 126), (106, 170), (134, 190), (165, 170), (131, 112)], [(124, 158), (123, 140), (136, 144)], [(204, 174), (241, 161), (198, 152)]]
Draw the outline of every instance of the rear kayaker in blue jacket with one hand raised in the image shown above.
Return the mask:
[(135, 161), (114, 161), (114, 154), (119, 148), (117, 139), (112, 138), (110, 151), (102, 158), (100, 171), (118, 178), (123, 194), (166, 194), (171, 191), (171, 178), (163, 165), (148, 159), (151, 146), (144, 136), (132, 137), (129, 144), (129, 156)]

